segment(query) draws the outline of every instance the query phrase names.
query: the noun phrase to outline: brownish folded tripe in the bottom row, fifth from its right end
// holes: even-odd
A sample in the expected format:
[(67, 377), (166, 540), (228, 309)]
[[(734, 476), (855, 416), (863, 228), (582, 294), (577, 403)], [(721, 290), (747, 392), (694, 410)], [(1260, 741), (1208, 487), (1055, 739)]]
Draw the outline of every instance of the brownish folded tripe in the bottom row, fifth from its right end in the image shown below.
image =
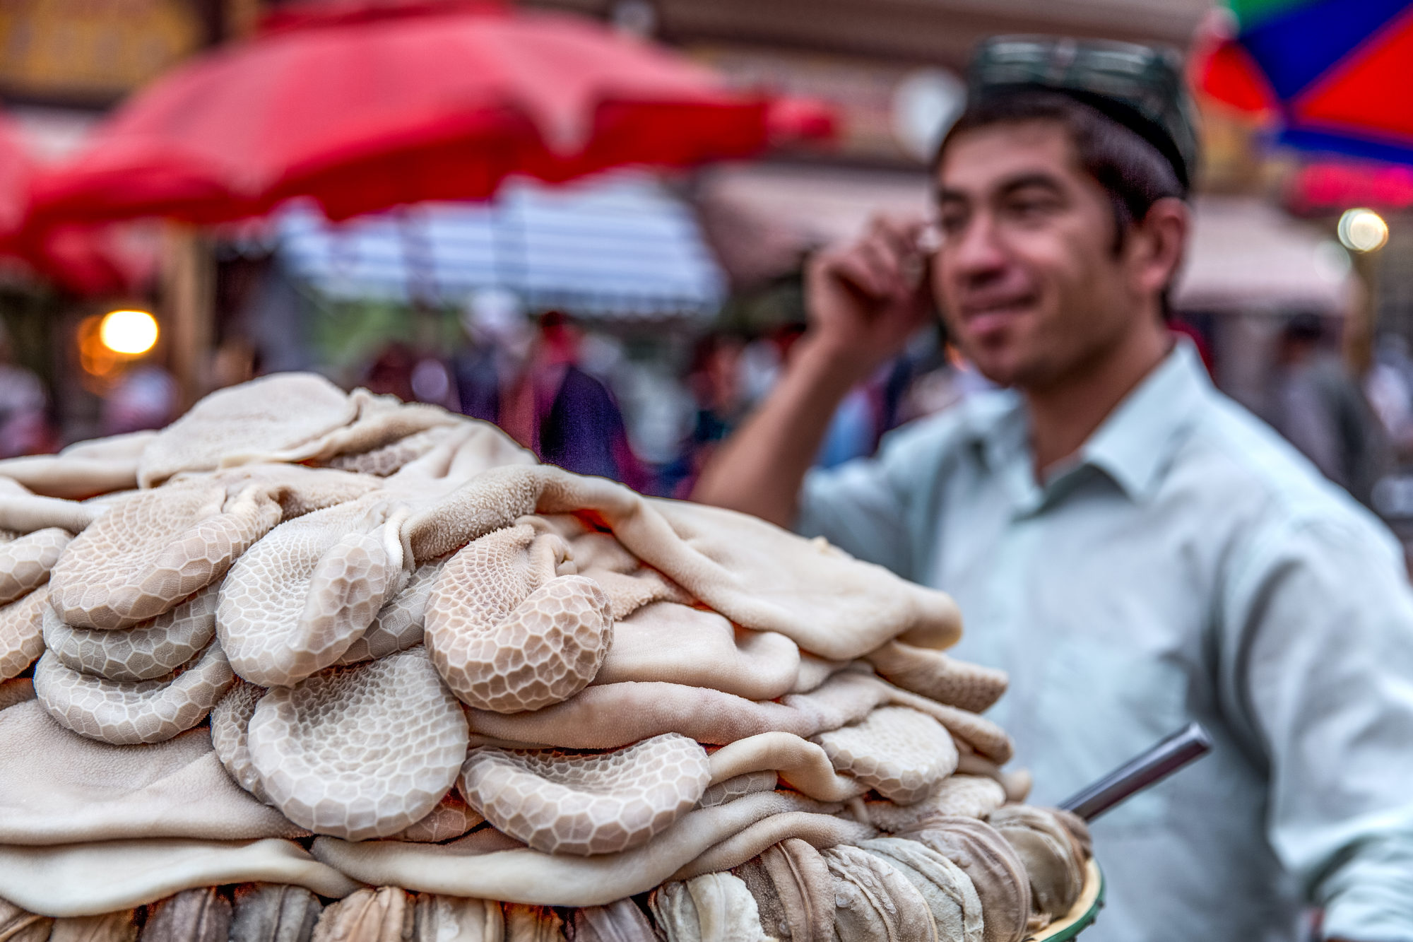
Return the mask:
[(780, 942), (834, 939), (834, 877), (811, 844), (788, 837), (736, 868), (760, 912), (760, 925)]

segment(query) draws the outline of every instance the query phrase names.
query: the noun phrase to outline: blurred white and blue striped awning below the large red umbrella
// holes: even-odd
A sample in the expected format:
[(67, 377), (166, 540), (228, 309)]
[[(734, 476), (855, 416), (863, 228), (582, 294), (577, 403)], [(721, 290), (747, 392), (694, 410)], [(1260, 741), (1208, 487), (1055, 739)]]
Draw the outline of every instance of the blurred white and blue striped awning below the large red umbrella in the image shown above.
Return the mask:
[(490, 204), (427, 202), (328, 222), (276, 221), (287, 269), (328, 297), (462, 304), (495, 287), (530, 310), (591, 318), (709, 317), (726, 279), (692, 209), (650, 174), (548, 187), (516, 180)]

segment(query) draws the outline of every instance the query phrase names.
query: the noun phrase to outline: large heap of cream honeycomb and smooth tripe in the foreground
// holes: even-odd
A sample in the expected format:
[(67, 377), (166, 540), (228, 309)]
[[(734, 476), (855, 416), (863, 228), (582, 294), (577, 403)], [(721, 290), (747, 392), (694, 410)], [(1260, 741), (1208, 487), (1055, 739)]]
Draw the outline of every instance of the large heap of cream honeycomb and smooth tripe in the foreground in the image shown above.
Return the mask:
[(485, 423), (277, 375), (0, 463), (0, 938), (1015, 942), (1085, 881), (947, 595)]

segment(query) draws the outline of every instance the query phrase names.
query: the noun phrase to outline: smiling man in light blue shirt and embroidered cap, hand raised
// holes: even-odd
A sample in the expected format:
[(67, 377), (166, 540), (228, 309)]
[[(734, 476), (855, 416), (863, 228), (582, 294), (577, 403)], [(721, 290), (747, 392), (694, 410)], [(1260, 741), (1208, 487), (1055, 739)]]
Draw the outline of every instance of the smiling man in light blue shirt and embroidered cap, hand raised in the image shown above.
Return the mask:
[[(1164, 327), (1195, 139), (1142, 47), (996, 40), (935, 164), (940, 248), (822, 255), (812, 325), (698, 499), (951, 593), (1056, 802), (1188, 720), (1212, 754), (1095, 823), (1085, 938), (1413, 941), (1413, 595), (1399, 547)], [(931, 289), (927, 281), (931, 280)], [(927, 293), (1009, 390), (810, 472)]]

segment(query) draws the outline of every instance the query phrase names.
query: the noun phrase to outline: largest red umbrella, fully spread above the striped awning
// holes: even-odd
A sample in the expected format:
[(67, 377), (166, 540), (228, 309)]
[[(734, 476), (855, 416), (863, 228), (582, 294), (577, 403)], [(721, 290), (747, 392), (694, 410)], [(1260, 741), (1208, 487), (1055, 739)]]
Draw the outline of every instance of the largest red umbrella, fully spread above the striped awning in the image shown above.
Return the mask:
[(219, 222), (298, 195), (342, 219), (482, 199), (510, 173), (562, 181), (763, 149), (771, 110), (704, 69), (592, 21), (499, 4), (307, 6), (129, 100), (35, 184), (37, 225), (164, 215)]

